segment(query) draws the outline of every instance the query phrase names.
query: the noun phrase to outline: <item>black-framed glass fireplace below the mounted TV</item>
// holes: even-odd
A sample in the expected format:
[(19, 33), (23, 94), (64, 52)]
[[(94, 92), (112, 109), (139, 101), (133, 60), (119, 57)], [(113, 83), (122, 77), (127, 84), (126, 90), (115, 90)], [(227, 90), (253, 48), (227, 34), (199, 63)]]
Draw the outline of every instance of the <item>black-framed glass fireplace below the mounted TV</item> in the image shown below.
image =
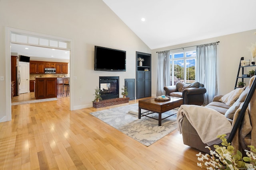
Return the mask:
[(119, 98), (119, 77), (100, 76), (100, 94), (102, 100)]

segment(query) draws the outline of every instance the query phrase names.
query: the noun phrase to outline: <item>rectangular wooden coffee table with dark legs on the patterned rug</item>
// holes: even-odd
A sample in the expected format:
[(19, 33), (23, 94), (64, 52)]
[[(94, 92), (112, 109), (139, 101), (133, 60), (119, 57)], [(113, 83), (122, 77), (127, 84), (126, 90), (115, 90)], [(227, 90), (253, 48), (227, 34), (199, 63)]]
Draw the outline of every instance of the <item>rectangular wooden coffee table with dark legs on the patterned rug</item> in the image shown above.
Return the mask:
[[(141, 115), (150, 117), (148, 115), (150, 115), (152, 113), (148, 113), (148, 111), (152, 111), (153, 113), (158, 113), (158, 119), (156, 119), (154, 117), (150, 117), (150, 118), (158, 120), (158, 126), (161, 126), (163, 119), (166, 119), (167, 117), (174, 115), (174, 114), (172, 114), (172, 115), (168, 115), (167, 117), (162, 118), (162, 113), (169, 111), (171, 109), (174, 109), (176, 107), (180, 107), (183, 104), (183, 98), (170, 97), (170, 99), (171, 100), (164, 101), (164, 102), (155, 101), (154, 98), (139, 100), (138, 118), (140, 119)], [(141, 113), (141, 109), (145, 109), (148, 111)]]

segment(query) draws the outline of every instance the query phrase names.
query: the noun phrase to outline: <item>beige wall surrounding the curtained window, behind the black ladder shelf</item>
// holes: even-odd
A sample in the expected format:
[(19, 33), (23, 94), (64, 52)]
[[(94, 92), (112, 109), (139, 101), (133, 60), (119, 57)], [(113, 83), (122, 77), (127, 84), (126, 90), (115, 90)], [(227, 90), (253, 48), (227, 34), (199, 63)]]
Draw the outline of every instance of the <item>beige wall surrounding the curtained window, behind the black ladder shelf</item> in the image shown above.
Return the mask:
[[(251, 60), (251, 54), (250, 51), (248, 51), (248, 47), (251, 47), (252, 43), (256, 43), (256, 35), (254, 35), (255, 31), (256, 29), (224, 35), (221, 37), (204, 39), (201, 41), (154, 49), (151, 52), (152, 63), (158, 63), (157, 51), (165, 51), (220, 41), (219, 45), (217, 46), (218, 94), (226, 94), (231, 90), (234, 90), (240, 58), (244, 57), (244, 59)], [(249, 67), (244, 74), (248, 73), (248, 71), (252, 69), (255, 69), (255, 67)], [(152, 95), (156, 95), (156, 80), (157, 64), (154, 64), (152, 65)], [(248, 82), (248, 80), (249, 79), (245, 79), (246, 82)]]

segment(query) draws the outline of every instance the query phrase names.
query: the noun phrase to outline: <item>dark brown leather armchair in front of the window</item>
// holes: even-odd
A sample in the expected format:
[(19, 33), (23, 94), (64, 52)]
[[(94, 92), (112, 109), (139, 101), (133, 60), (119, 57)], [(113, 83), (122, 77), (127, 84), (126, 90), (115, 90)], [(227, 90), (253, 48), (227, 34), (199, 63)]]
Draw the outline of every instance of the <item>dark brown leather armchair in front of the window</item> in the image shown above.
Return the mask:
[(183, 104), (199, 106), (204, 104), (206, 88), (204, 88), (204, 84), (200, 84), (199, 82), (192, 84), (177, 82), (175, 86), (164, 86), (164, 90), (165, 95), (183, 98)]

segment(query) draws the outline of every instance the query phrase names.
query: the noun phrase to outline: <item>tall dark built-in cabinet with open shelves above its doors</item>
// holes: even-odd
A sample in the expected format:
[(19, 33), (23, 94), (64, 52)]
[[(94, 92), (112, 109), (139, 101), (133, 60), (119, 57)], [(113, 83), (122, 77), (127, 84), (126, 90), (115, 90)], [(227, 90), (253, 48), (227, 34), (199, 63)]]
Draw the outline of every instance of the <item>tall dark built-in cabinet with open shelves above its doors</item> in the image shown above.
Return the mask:
[[(138, 58), (144, 59), (142, 66)], [(136, 51), (136, 98), (151, 97), (151, 54)]]

